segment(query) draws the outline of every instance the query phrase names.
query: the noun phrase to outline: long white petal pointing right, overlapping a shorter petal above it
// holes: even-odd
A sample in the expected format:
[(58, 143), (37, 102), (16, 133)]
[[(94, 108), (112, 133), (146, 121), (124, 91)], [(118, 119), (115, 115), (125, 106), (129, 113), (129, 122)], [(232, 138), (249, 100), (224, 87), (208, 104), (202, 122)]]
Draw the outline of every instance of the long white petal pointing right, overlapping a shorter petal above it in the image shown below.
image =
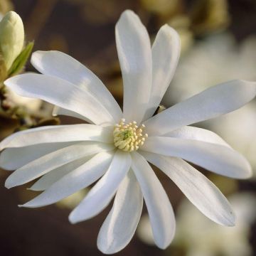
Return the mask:
[(249, 162), (230, 147), (193, 139), (149, 137), (140, 149), (164, 156), (176, 156), (217, 174), (232, 178), (249, 178)]

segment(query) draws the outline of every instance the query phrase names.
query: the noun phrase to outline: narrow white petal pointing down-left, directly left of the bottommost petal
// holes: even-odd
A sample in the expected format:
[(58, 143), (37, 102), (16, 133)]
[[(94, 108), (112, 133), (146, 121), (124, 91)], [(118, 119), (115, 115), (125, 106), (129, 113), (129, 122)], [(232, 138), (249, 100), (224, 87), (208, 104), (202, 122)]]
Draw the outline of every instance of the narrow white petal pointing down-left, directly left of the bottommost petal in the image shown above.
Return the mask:
[(119, 183), (126, 176), (130, 166), (130, 154), (117, 150), (106, 174), (90, 190), (85, 199), (70, 213), (70, 222), (78, 223), (100, 213), (112, 200)]

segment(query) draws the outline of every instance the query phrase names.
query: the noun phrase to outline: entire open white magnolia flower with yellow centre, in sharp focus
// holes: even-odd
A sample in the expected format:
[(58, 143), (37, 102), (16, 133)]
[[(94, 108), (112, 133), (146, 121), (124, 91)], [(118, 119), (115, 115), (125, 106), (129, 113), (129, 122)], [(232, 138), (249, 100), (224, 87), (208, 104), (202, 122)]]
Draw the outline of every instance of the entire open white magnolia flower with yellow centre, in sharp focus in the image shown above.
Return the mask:
[(139, 18), (124, 11), (116, 41), (124, 80), (123, 112), (99, 78), (57, 51), (33, 53), (32, 63), (43, 75), (6, 80), (19, 95), (46, 100), (60, 107), (61, 114), (92, 123), (39, 127), (4, 139), (0, 165), (16, 169), (6, 187), (41, 177), (31, 189), (43, 193), (23, 205), (35, 208), (56, 203), (99, 179), (70, 213), (70, 222), (92, 218), (114, 198), (97, 240), (102, 252), (114, 253), (132, 239), (144, 198), (156, 245), (166, 248), (174, 238), (174, 211), (149, 161), (208, 218), (234, 225), (227, 199), (186, 161), (233, 178), (249, 177), (250, 164), (217, 134), (188, 125), (245, 105), (256, 95), (255, 83), (225, 82), (152, 117), (176, 69), (178, 35), (165, 25), (151, 48)]

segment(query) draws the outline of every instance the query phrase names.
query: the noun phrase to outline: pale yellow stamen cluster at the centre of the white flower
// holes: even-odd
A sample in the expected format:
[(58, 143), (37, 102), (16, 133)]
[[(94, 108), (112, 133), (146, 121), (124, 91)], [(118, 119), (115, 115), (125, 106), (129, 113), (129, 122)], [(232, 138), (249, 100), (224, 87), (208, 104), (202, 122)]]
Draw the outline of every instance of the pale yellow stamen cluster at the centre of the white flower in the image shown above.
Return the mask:
[(129, 152), (138, 150), (148, 137), (148, 134), (143, 134), (144, 128), (144, 124), (138, 127), (135, 121), (125, 124), (125, 119), (121, 119), (119, 124), (114, 126), (114, 146)]

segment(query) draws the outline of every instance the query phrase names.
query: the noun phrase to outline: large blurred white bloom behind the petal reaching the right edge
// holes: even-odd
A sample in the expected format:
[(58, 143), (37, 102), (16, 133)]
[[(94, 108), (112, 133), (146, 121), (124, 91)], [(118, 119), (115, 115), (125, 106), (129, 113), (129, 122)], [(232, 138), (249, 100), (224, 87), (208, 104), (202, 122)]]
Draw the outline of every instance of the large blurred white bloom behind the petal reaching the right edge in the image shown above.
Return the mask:
[[(227, 80), (256, 80), (256, 36), (238, 44), (231, 33), (218, 33), (200, 41), (183, 55), (163, 105), (169, 107), (207, 87)], [(213, 130), (247, 156), (256, 169), (256, 100), (223, 117), (199, 124)]]

